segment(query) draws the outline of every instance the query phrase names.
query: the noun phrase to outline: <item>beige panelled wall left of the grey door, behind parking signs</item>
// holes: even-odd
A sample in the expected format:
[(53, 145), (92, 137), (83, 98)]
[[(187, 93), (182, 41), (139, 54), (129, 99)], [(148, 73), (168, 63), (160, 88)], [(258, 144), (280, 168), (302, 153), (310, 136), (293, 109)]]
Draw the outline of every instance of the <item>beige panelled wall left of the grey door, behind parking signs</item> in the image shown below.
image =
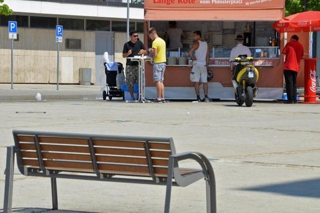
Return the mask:
[[(18, 28), (19, 40), (14, 41), (14, 83), (56, 83), (57, 45), (55, 29)], [(81, 39), (81, 49), (65, 49), (65, 38)], [(0, 83), (9, 83), (10, 40), (7, 27), (0, 27)], [(95, 32), (63, 31), (60, 44), (61, 83), (78, 83), (79, 68), (92, 69), (95, 79)]]

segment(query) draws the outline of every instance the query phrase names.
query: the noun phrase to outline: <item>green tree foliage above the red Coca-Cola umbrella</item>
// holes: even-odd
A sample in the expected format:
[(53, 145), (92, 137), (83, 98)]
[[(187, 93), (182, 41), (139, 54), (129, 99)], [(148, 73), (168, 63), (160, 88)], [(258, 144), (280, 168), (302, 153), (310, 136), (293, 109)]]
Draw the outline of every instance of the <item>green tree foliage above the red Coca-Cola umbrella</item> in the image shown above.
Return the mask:
[(308, 10), (320, 10), (320, 0), (285, 0), (285, 16)]

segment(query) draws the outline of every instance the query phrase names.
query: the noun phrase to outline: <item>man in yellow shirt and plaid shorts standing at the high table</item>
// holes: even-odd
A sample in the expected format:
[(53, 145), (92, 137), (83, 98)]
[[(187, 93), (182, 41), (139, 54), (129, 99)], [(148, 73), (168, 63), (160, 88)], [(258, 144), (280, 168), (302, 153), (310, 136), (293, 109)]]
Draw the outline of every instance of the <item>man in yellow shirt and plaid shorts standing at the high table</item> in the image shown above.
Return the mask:
[(153, 27), (148, 30), (148, 36), (153, 40), (152, 48), (149, 48), (148, 51), (153, 53), (153, 81), (155, 82), (157, 94), (157, 98), (152, 102), (165, 103), (163, 85), (163, 74), (166, 62), (165, 41), (156, 34), (156, 30)]

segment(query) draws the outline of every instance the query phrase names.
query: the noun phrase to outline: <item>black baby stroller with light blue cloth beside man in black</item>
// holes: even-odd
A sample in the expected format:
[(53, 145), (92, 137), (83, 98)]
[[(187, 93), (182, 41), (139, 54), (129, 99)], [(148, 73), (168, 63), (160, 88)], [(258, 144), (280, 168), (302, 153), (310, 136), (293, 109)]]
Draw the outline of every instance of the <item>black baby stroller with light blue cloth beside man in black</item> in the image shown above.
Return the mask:
[(106, 90), (103, 90), (102, 97), (103, 100), (106, 100), (106, 96), (109, 97), (109, 100), (112, 100), (113, 97), (122, 97), (124, 100), (124, 92), (121, 89), (117, 89), (116, 85), (116, 75), (123, 75), (123, 65), (117, 62), (106, 62), (103, 63), (104, 71), (106, 76)]

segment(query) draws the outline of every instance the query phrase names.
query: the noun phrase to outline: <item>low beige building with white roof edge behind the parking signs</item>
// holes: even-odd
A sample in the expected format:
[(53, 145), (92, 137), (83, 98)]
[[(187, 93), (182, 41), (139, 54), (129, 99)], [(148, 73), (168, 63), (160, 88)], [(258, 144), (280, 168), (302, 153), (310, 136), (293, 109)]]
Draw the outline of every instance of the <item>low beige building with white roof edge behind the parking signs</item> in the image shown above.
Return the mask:
[[(5, 0), (13, 15), (0, 16), (0, 83), (9, 83), (8, 21), (18, 24), (14, 40), (14, 83), (56, 83), (55, 25), (63, 25), (59, 82), (77, 84), (79, 68), (91, 68), (91, 83), (103, 84), (101, 59), (125, 64), (126, 2), (101, 0)], [(143, 4), (130, 3), (130, 30), (143, 40)]]

